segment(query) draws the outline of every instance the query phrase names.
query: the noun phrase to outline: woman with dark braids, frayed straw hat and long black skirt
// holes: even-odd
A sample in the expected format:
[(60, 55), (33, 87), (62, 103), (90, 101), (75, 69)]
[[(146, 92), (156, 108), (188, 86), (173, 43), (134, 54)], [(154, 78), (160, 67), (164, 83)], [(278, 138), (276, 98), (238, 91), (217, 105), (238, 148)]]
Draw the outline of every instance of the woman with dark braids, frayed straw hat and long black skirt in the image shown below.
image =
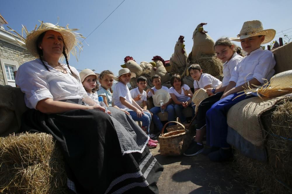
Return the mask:
[[(23, 46), (37, 59), (22, 64), (15, 79), (31, 108), (23, 115), (22, 130), (57, 140), (69, 192), (158, 192), (155, 182), (163, 167), (146, 147), (145, 133), (139, 127), (125, 129), (99, 105), (82, 105), (88, 96), (67, 59), (70, 51), (77, 53), (82, 35), (43, 22), (31, 32), (24, 29)], [(59, 62), (62, 55), (66, 65)]]

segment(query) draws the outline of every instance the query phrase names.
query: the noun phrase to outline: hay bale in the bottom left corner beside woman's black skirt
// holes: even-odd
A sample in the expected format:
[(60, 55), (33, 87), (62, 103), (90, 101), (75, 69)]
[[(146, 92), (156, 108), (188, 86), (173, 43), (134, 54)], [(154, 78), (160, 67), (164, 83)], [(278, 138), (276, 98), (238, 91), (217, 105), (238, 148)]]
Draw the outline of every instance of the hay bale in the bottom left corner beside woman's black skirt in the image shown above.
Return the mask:
[(0, 138), (0, 193), (67, 193), (62, 154), (49, 134)]

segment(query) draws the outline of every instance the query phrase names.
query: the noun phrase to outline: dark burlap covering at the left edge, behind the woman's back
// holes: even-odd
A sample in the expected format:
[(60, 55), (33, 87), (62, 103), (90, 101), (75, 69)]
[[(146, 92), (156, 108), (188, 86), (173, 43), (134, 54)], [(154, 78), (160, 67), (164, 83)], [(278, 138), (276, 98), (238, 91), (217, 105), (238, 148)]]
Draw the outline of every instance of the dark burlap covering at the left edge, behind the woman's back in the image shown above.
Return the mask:
[(0, 85), (0, 136), (18, 132), (21, 116), (26, 110), (20, 88)]

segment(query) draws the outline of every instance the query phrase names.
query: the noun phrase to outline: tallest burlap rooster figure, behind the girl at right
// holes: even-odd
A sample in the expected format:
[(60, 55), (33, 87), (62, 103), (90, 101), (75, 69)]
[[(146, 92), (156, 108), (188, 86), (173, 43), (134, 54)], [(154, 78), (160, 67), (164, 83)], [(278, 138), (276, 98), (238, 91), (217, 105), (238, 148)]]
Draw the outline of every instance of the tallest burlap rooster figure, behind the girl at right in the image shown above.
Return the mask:
[[(192, 48), (192, 59), (195, 59), (197, 54), (215, 54), (214, 52), (214, 40), (207, 34), (204, 33), (203, 25), (201, 23), (197, 26), (193, 33), (193, 48)], [(202, 33), (203, 32), (203, 33)]]

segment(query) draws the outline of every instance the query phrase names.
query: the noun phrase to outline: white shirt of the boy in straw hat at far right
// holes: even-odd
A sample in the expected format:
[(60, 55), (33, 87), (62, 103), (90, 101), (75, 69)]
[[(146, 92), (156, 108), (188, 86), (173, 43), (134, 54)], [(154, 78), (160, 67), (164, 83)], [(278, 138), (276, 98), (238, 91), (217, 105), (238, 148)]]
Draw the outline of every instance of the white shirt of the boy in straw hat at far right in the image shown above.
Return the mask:
[(237, 63), (230, 81), (236, 83), (235, 87), (240, 86), (253, 78), (256, 78), (263, 84), (263, 79), (269, 81), (275, 74), (275, 65), (276, 60), (271, 51), (263, 50), (261, 48), (256, 49)]

